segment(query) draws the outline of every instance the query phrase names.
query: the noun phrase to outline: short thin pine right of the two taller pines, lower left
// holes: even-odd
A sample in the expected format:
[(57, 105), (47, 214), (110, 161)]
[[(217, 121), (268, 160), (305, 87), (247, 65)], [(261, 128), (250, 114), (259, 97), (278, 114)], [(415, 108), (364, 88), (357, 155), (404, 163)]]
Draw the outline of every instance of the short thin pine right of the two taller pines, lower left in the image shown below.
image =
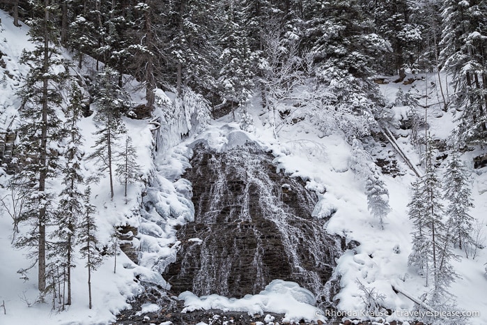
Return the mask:
[(79, 252), (86, 259), (86, 268), (88, 269), (88, 306), (91, 309), (91, 273), (96, 271), (102, 263), (102, 256), (96, 248), (98, 239), (96, 238), (96, 224), (93, 218), (95, 206), (90, 203), (91, 188), (88, 186), (84, 191), (84, 216), (79, 225)]

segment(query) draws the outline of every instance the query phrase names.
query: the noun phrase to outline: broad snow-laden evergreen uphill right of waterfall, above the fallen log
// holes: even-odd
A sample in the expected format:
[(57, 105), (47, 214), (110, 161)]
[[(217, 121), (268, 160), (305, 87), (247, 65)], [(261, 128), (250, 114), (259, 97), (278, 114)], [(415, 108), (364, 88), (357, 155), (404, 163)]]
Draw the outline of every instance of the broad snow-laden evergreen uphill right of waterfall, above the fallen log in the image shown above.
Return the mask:
[[(326, 8), (326, 9), (325, 9)], [(370, 77), (377, 57), (389, 44), (373, 28), (360, 1), (306, 1), (301, 44), (311, 51), (314, 85), (309, 93), (318, 102), (311, 116), (320, 130), (341, 130), (352, 141), (370, 133), (371, 117), (382, 119), (384, 107)]]

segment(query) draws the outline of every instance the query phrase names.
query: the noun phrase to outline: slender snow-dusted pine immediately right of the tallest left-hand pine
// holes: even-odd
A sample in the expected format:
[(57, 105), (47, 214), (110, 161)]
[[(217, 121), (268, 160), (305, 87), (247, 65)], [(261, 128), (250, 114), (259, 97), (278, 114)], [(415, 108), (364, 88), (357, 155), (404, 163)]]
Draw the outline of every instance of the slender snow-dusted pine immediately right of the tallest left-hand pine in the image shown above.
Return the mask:
[(66, 110), (66, 143), (63, 174), (63, 190), (59, 201), (59, 209), (56, 212), (56, 231), (53, 236), (56, 242), (56, 254), (65, 259), (64, 268), (66, 271), (65, 282), (68, 285), (66, 305), (71, 304), (71, 269), (75, 266), (72, 262), (75, 251), (75, 238), (77, 225), (83, 215), (82, 198), (83, 193), (79, 190), (79, 184), (83, 183), (84, 177), (81, 172), (82, 160), (82, 135), (77, 123), (82, 119), (82, 92), (76, 85), (72, 86), (70, 94), (70, 105)]

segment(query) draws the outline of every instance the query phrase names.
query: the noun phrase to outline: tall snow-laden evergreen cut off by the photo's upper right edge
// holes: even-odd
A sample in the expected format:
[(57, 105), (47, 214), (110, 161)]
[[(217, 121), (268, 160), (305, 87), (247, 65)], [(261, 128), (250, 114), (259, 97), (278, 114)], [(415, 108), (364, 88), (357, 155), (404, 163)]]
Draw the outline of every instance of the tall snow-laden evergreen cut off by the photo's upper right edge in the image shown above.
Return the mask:
[(487, 1), (445, 1), (441, 59), (455, 84), (463, 144), (487, 142)]

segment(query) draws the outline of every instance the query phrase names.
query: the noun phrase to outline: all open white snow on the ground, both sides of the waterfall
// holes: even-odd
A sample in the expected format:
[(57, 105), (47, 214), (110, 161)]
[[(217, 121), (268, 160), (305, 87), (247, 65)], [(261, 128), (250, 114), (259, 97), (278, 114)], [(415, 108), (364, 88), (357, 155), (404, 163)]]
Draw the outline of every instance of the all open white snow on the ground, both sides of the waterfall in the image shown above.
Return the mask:
[[(16, 62), (22, 49), (29, 47), (25, 36), (26, 27), (13, 27), (10, 17), (0, 11), (2, 31), (0, 32), (0, 50), (7, 62), (7, 70), (14, 74), (13, 78), (5, 77), (5, 82), (0, 86), (0, 125), (12, 120), (19, 103), (15, 100), (15, 91), (21, 83), (22, 76), (26, 73), (26, 67), (19, 66)], [(3, 41), (6, 39), (8, 41)], [(421, 76), (419, 76), (421, 77)], [(385, 84), (381, 85), (381, 91), (389, 100), (394, 101), (396, 93), (401, 87), (407, 92), (412, 91), (419, 97), (426, 95), (428, 85), (428, 105), (438, 102), (438, 80), (435, 88), (431, 88), (433, 75), (426, 77), (424, 81), (416, 81), (411, 85)], [(442, 76), (444, 78), (445, 76)], [(444, 87), (446, 89), (446, 84)], [(139, 96), (140, 94), (134, 94)], [(171, 100), (167, 98), (167, 100)], [(137, 99), (137, 98), (136, 98)], [(257, 100), (257, 99), (256, 99)], [(254, 118), (255, 130), (246, 133), (240, 130), (238, 123), (231, 121), (231, 116), (224, 116), (217, 121), (211, 121), (210, 125), (199, 135), (191, 136), (185, 142), (178, 144), (165, 153), (160, 153), (153, 160), (151, 150), (153, 137), (148, 121), (134, 121), (125, 119), (125, 125), (129, 130), (134, 144), (137, 145), (139, 164), (142, 166), (146, 180), (153, 177), (153, 183), (157, 183), (160, 190), (166, 195), (161, 195), (167, 204), (157, 206), (157, 209), (171, 209), (178, 205), (183, 209), (178, 193), (187, 190), (187, 184), (178, 182), (180, 174), (188, 167), (187, 157), (190, 149), (188, 146), (195, 141), (204, 141), (217, 150), (225, 150), (231, 146), (239, 145), (247, 140), (258, 143), (265, 149), (269, 149), (275, 155), (276, 168), (307, 179), (307, 188), (318, 193), (320, 201), (316, 209), (316, 216), (326, 214), (327, 211), (336, 211), (327, 223), (327, 231), (345, 236), (348, 241), (359, 241), (360, 246), (355, 251), (346, 252), (338, 261), (337, 273), (341, 276), (341, 292), (339, 309), (348, 312), (349, 315), (360, 315), (364, 310), (362, 296), (358, 288), (357, 280), (366, 287), (376, 288), (380, 294), (385, 295), (385, 306), (395, 313), (391, 319), (404, 319), (408, 317), (403, 310), (412, 310), (413, 303), (402, 294), (396, 294), (392, 285), (400, 287), (412, 296), (419, 297), (427, 288), (424, 287), (424, 279), (408, 268), (407, 259), (410, 253), (412, 224), (408, 219), (406, 204), (410, 197), (410, 183), (415, 175), (399, 160), (399, 168), (405, 172), (403, 176), (388, 176), (383, 178), (389, 190), (389, 204), (391, 213), (385, 220), (385, 229), (381, 230), (378, 220), (373, 219), (367, 210), (366, 195), (363, 184), (350, 170), (350, 145), (340, 134), (334, 133), (323, 137), (318, 131), (314, 131), (304, 123), (281, 128), (277, 139), (272, 128), (261, 116), (261, 107), (257, 101), (249, 110)], [(424, 103), (424, 98), (421, 99)], [(394, 107), (396, 117), (399, 119), (405, 114), (406, 107)], [(438, 105), (433, 105), (427, 112), (429, 130), (435, 137), (445, 139), (454, 127), (451, 112), (442, 112)], [(424, 116), (424, 115), (422, 115)], [(83, 119), (82, 130), (85, 135), (84, 147), (88, 152), (93, 144), (92, 133), (95, 126), (92, 116)], [(413, 162), (419, 162), (419, 156), (408, 142), (408, 137), (398, 140), (403, 151), (410, 156)], [(386, 146), (384, 152), (392, 151)], [(467, 162), (472, 161), (474, 153), (466, 153)], [(87, 163), (84, 166), (86, 175), (94, 173), (94, 166)], [(472, 174), (473, 196), (475, 208), (472, 216), (481, 222), (487, 222), (487, 176), (486, 174)], [(157, 179), (157, 181), (156, 181)], [(3, 179), (4, 181), (4, 179)], [(2, 183), (3, 183), (2, 181)], [(93, 198), (97, 206), (97, 220), (99, 237), (102, 244), (108, 243), (114, 226), (130, 224), (133, 227), (141, 225), (139, 216), (141, 193), (145, 190), (144, 183), (130, 187), (130, 200), (126, 204), (123, 197), (123, 188), (116, 185), (115, 198), (109, 199), (106, 180), (101, 180), (98, 186), (93, 186)], [(5, 195), (5, 189), (0, 189), (0, 194)], [(186, 208), (185, 208), (186, 209)], [(190, 211), (187, 208), (184, 213)], [(163, 225), (161, 222), (150, 223), (144, 221), (144, 227), (153, 227), (160, 235), (160, 239), (150, 240), (143, 235), (139, 240), (152, 249), (147, 255), (142, 255), (144, 265), (159, 257), (171, 258), (178, 247), (174, 225), (191, 220), (191, 216), (183, 216), (177, 220), (168, 218)], [(51, 310), (49, 304), (33, 303), (38, 296), (36, 289), (36, 270), (32, 269), (32, 280), (24, 282), (20, 280), (16, 271), (29, 264), (24, 258), (24, 251), (13, 250), (10, 245), (11, 220), (5, 213), (0, 217), (0, 303), (6, 307), (6, 315), (0, 308), (0, 324), (109, 324), (114, 322), (114, 314), (129, 305), (126, 299), (140, 292), (141, 287), (134, 282), (134, 276), (143, 274), (146, 278), (157, 278), (157, 274), (151, 269), (136, 266), (125, 255), (117, 257), (117, 273), (114, 274), (114, 257), (107, 257), (104, 264), (95, 271), (93, 281), (93, 309), (88, 309), (87, 298), (87, 274), (84, 262), (77, 259), (77, 267), (72, 271), (73, 304), (63, 312)], [(157, 248), (152, 247), (152, 245)], [(145, 247), (145, 246), (144, 246)], [(148, 248), (147, 248), (148, 249)], [(456, 296), (456, 305), (468, 311), (479, 311), (479, 317), (472, 317), (469, 324), (487, 324), (487, 280), (485, 278), (484, 263), (487, 262), (486, 250), (479, 250), (475, 259), (466, 259), (463, 252), (456, 252), (460, 259), (455, 262), (456, 271), (460, 278), (451, 286), (451, 293)], [(158, 278), (157, 278), (158, 279)], [(159, 279), (163, 284), (164, 280)], [(195, 309), (222, 308), (224, 310), (238, 310), (249, 313), (283, 312), (290, 320), (299, 319), (323, 319), (324, 312), (314, 307), (314, 298), (307, 290), (296, 287), (291, 282), (272, 282), (261, 294), (246, 296), (241, 299), (231, 297), (207, 296), (196, 297), (191, 293), (181, 294), (188, 312)], [(312, 294), (311, 294), (312, 296)], [(144, 309), (145, 308), (145, 309)], [(141, 313), (156, 310), (155, 305), (144, 306)], [(414, 317), (413, 317), (414, 318)], [(201, 323), (202, 324), (202, 323)]]

